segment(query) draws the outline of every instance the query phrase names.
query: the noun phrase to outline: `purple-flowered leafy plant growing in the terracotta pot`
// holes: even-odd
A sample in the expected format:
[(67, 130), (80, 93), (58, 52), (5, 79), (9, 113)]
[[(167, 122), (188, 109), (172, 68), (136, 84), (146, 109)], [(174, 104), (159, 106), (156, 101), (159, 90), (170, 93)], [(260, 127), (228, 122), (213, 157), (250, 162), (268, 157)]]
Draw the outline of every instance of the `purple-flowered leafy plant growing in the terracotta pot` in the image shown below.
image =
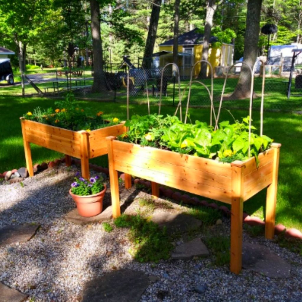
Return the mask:
[(80, 177), (75, 177), (75, 181), (71, 184), (71, 192), (75, 195), (86, 196), (97, 194), (104, 189), (103, 178), (96, 175), (89, 178), (89, 180)]

